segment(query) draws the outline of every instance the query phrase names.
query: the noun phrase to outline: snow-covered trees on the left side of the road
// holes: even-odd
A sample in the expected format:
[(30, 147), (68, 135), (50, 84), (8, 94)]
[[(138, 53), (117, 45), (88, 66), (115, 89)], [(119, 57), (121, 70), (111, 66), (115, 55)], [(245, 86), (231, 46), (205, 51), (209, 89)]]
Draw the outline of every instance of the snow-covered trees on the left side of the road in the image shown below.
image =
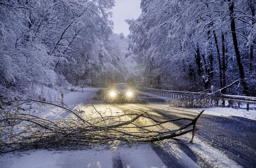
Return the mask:
[(0, 96), (84, 74), (92, 47), (112, 33), (113, 6), (114, 0), (1, 1)]

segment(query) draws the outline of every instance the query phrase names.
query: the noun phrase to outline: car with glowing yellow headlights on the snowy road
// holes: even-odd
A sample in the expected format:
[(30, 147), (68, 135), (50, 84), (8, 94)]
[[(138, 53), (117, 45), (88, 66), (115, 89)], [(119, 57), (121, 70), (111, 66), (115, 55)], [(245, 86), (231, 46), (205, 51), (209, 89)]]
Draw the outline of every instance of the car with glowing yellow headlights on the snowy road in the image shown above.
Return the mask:
[(107, 89), (109, 101), (132, 101), (136, 98), (135, 92), (126, 83), (115, 83)]

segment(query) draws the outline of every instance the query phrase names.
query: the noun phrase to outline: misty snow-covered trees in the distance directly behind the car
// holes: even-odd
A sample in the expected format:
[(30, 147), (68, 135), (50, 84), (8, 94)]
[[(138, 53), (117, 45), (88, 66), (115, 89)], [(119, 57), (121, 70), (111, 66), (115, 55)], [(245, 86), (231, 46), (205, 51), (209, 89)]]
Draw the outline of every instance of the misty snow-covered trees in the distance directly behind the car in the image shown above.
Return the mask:
[(93, 50), (93, 68), (89, 72), (93, 74), (94, 84), (134, 82), (136, 63), (133, 61), (133, 54), (129, 52), (129, 43), (128, 38), (120, 38), (117, 34), (112, 34), (108, 40), (98, 43)]

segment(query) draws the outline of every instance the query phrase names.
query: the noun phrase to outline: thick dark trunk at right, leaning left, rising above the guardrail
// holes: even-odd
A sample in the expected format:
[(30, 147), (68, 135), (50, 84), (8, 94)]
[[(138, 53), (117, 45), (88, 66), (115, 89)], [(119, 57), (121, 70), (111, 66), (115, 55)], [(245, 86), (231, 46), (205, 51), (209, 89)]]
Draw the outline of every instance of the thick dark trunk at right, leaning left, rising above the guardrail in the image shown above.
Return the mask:
[[(228, 2), (230, 2), (230, 0), (228, 0)], [(234, 1), (230, 2), (230, 4), (229, 4), (229, 16), (230, 16), (230, 20), (231, 20), (230, 26), (231, 26), (232, 37), (233, 37), (233, 44), (234, 44), (234, 48), (235, 48), (235, 52), (236, 52), (237, 66), (239, 68), (240, 78), (242, 80), (241, 83), (242, 83), (242, 86), (244, 88), (245, 94), (247, 96), (249, 96), (248, 86), (247, 86), (247, 83), (244, 80), (244, 78), (245, 78), (244, 67), (243, 67), (243, 64), (241, 62), (240, 52), (239, 52), (237, 38), (236, 38), (236, 25), (235, 25), (235, 18), (234, 18)]]

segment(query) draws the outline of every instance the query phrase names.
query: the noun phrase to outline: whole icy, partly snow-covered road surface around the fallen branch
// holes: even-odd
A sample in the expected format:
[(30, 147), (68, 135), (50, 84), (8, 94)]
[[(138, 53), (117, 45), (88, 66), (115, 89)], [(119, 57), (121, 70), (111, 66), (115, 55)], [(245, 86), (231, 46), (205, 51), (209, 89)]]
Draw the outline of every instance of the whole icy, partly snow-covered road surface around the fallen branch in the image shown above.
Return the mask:
[[(69, 106), (83, 108), (84, 99), (96, 96), (97, 89), (86, 88), (70, 92), (64, 100)], [(138, 103), (139, 102), (139, 103)], [(134, 103), (105, 104), (93, 100), (99, 110), (110, 108), (122, 113), (127, 109), (142, 109), (156, 118), (172, 119), (195, 117), (203, 109), (172, 108), (159, 97), (139, 95)], [(197, 121), (203, 128), (196, 132), (193, 143), (191, 133), (181, 140), (157, 143), (134, 143), (104, 150), (97, 146), (88, 150), (23, 151), (20, 156), (8, 153), (0, 156), (0, 167), (256, 167), (256, 111), (231, 108), (208, 108)], [(183, 125), (182, 121), (174, 123)]]

